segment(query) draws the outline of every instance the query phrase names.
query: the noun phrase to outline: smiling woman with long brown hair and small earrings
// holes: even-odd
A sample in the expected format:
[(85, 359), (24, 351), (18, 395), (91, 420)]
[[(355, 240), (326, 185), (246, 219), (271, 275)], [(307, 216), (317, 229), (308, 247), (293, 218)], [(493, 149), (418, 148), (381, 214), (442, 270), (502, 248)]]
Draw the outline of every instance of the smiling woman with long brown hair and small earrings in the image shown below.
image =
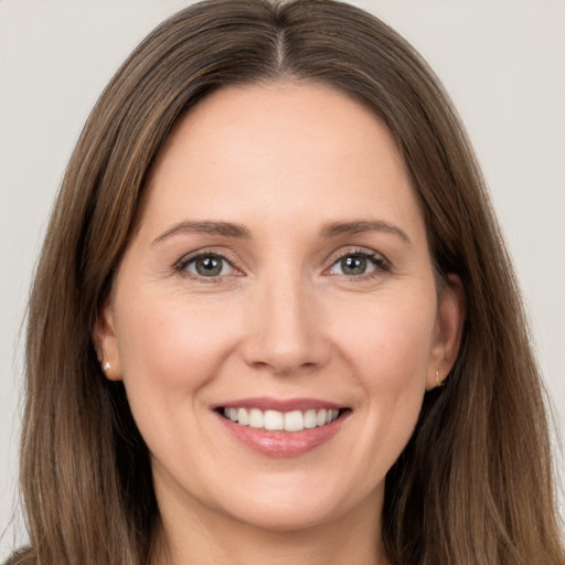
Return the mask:
[(472, 151), (360, 10), (152, 32), (71, 160), (29, 328), (13, 563), (564, 561)]

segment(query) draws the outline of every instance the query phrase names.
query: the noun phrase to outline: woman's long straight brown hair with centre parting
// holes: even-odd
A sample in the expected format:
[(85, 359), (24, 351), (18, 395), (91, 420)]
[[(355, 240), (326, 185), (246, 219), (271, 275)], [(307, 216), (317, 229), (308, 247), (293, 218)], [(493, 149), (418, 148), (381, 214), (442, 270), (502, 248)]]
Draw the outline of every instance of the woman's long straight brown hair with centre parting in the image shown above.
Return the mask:
[[(147, 563), (159, 512), (147, 447), (92, 332), (146, 175), (175, 121), (225, 85), (292, 77), (362, 100), (388, 126), (439, 279), (467, 317), (446, 386), (426, 394), (386, 478), (392, 564), (563, 565), (544, 397), (479, 168), (419, 55), (332, 0), (209, 0), (159, 25), (116, 73), (68, 164), (30, 300), (21, 484), (31, 547), (14, 563)], [(375, 534), (376, 535), (376, 534)]]

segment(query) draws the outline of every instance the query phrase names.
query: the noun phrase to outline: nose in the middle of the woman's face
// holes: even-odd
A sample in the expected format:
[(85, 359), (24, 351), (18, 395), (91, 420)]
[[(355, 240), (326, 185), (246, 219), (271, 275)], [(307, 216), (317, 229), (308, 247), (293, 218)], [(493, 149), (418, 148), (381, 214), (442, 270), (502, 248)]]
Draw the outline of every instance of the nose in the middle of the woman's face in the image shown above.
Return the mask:
[(277, 375), (323, 366), (330, 358), (323, 309), (300, 280), (265, 281), (254, 296), (244, 344), (247, 364)]

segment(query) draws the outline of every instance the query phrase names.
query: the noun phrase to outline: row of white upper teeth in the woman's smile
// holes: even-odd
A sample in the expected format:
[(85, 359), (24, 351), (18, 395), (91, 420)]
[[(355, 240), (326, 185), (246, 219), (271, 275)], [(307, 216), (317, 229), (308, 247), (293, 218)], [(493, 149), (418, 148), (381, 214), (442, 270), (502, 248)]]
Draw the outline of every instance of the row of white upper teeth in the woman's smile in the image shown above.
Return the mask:
[(337, 409), (321, 408), (319, 411), (310, 408), (308, 411), (260, 411), (259, 408), (224, 408), (223, 414), (226, 418), (252, 428), (263, 428), (268, 430), (301, 431), (319, 426), (326, 426), (335, 420), (340, 414)]

